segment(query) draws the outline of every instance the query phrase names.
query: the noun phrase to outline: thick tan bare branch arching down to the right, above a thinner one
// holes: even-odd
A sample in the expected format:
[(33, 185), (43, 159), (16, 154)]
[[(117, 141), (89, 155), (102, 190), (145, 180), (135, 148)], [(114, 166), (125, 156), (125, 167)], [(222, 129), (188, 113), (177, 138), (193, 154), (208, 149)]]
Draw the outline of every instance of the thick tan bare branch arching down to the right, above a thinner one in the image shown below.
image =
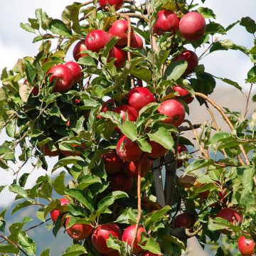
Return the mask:
[[(230, 122), (230, 119), (225, 114), (225, 112), (221, 109), (220, 106), (218, 106), (213, 100), (211, 100), (208, 96), (204, 95), (202, 92), (195, 92), (195, 95), (203, 98), (204, 100), (208, 101), (213, 107), (215, 107), (215, 109), (218, 110), (218, 112), (220, 112), (220, 114), (225, 119), (225, 122), (228, 124), (230, 129), (233, 131), (234, 127), (233, 127), (232, 122)], [(245, 153), (245, 149), (243, 148), (242, 144), (239, 144), (239, 148), (242, 152), (242, 155), (245, 157), (246, 164), (250, 165), (250, 161)], [(245, 165), (245, 162), (242, 160), (242, 157), (240, 155), (238, 155), (238, 158), (239, 158), (240, 164)]]

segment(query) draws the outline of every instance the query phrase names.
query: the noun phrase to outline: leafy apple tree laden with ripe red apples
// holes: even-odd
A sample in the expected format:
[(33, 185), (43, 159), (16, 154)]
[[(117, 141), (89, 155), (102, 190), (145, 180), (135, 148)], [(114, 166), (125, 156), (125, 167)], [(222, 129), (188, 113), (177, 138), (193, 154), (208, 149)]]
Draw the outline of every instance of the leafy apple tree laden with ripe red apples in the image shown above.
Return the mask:
[[(12, 213), (33, 208), (49, 232), (64, 230), (73, 245), (63, 255), (181, 255), (192, 237), (215, 245), (216, 255), (238, 255), (227, 244), (254, 255), (256, 112), (247, 112), (256, 46), (225, 38), (234, 26), (255, 43), (252, 18), (224, 28), (193, 0), (75, 2), (61, 19), (37, 9), (21, 28), (35, 34), (38, 53), (1, 73), (8, 139), (0, 166), (14, 174)], [(201, 64), (216, 50), (239, 50), (252, 62), (245, 113), (209, 96), (216, 80), (242, 92)], [(193, 100), (210, 120), (189, 118)], [(220, 129), (213, 108), (229, 130)], [(48, 170), (30, 188), (32, 171), (22, 173), (28, 163)], [(5, 213), (1, 255), (50, 255), (26, 233), (31, 218), (7, 226)]]

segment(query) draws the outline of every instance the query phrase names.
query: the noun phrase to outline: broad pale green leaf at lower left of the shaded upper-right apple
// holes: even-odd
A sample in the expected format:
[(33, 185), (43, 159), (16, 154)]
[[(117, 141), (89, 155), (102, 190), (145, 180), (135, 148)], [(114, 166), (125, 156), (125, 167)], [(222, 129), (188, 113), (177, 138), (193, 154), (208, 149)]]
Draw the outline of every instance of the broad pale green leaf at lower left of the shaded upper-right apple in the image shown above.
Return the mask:
[(164, 72), (164, 80), (178, 80), (178, 78), (181, 78), (181, 75), (183, 75), (187, 67), (188, 63), (186, 61), (177, 60), (171, 62)]

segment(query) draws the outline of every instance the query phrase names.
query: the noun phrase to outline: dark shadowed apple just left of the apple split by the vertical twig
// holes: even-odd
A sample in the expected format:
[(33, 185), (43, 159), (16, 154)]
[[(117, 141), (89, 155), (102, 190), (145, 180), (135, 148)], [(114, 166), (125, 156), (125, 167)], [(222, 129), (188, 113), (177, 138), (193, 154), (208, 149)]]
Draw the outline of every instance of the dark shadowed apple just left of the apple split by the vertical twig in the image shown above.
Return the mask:
[(102, 154), (102, 160), (104, 161), (107, 174), (114, 174), (122, 170), (124, 162), (117, 156), (116, 152), (112, 151)]

